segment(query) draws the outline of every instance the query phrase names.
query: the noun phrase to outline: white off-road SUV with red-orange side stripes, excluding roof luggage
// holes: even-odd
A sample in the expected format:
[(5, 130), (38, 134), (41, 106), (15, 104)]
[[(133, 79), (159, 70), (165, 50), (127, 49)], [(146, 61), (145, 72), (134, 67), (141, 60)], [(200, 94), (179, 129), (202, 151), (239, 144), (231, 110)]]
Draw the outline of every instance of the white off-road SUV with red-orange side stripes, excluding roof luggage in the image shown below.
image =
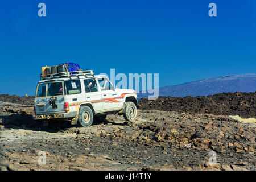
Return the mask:
[(105, 121), (107, 114), (118, 113), (131, 122), (138, 104), (135, 90), (114, 88), (104, 75), (94, 76), (91, 70), (63, 72), (40, 76), (33, 117), (44, 121), (65, 119), (89, 127), (93, 118)]

